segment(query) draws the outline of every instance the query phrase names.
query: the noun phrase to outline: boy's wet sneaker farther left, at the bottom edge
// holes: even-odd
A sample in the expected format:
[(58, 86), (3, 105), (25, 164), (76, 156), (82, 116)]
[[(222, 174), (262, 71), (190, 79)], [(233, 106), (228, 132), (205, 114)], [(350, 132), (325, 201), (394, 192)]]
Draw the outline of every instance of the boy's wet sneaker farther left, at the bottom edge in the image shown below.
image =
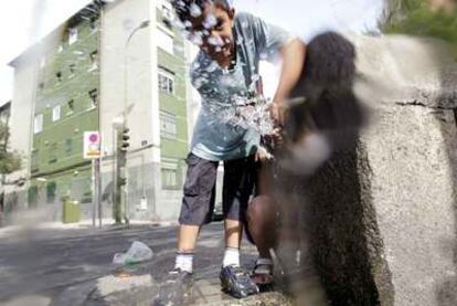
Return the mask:
[(153, 306), (181, 306), (190, 297), (193, 285), (193, 274), (180, 268), (173, 268), (160, 284), (159, 296)]

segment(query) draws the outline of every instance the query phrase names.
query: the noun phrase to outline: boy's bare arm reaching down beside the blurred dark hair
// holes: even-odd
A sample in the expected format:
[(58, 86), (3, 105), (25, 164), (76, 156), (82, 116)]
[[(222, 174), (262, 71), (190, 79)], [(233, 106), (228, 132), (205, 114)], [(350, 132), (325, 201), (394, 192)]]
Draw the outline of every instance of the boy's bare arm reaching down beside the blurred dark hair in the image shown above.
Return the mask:
[(286, 102), (290, 91), (297, 84), (305, 64), (306, 45), (299, 39), (294, 39), (280, 49), (283, 60), (278, 87), (272, 105), (272, 117), (279, 125), (284, 124)]

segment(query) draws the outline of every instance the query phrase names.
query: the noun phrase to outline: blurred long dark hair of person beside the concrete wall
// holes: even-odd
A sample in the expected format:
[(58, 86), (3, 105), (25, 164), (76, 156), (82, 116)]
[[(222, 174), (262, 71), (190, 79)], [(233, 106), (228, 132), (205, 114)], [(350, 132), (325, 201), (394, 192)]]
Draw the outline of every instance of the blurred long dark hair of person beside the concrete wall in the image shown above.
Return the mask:
[(338, 149), (353, 145), (365, 114), (353, 93), (355, 78), (355, 49), (336, 32), (326, 32), (312, 39), (301, 76), (291, 97), (304, 97), (306, 103), (293, 106), (286, 131), (293, 141), (304, 130), (320, 130)]

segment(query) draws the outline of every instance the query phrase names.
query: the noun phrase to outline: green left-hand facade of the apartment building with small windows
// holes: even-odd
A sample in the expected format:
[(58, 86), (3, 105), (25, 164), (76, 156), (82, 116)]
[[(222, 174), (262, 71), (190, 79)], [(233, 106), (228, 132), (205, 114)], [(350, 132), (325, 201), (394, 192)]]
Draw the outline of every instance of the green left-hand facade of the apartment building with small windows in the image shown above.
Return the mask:
[(29, 207), (70, 197), (92, 203), (83, 135), (97, 130), (100, 43), (98, 14), (76, 14), (40, 60), (33, 117)]

